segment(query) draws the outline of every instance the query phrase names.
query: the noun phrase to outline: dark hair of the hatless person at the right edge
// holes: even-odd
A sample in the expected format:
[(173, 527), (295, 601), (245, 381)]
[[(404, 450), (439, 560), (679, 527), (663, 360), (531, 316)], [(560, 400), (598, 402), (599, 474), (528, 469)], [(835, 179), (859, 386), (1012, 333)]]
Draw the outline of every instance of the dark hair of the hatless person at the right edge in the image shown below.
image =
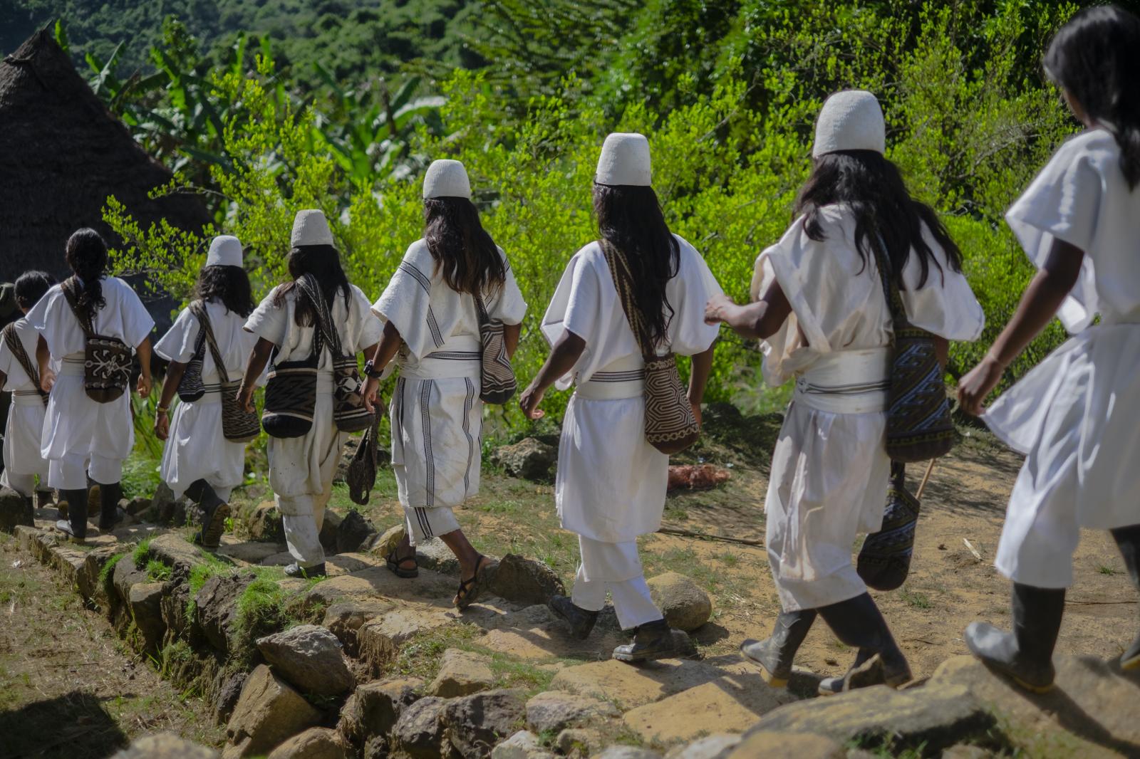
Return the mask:
[(1116, 6), (1086, 8), (1065, 24), (1043, 60), (1045, 73), (1121, 146), (1129, 188), (1140, 183), (1140, 18)]

